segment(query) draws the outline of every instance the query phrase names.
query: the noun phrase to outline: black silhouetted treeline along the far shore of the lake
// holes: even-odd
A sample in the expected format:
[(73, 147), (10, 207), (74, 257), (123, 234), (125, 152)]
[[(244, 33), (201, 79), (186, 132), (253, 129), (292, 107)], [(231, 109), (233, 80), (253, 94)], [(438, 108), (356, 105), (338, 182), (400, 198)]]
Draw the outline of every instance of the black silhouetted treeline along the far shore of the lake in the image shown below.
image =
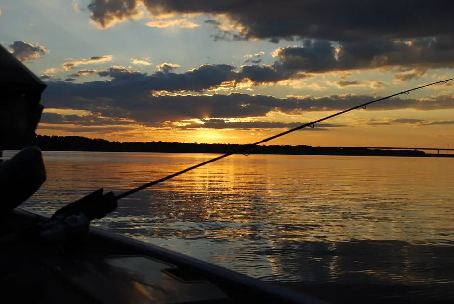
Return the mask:
[[(82, 136), (36, 135), (28, 144), (43, 151), (100, 151), (100, 152), (160, 152), (160, 153), (227, 153), (246, 145), (224, 143), (181, 143), (181, 142), (110, 142)], [(18, 150), (18, 144), (6, 150)], [(261, 145), (251, 154), (296, 154), (296, 155), (362, 155), (362, 156), (438, 156), (453, 157), (451, 154), (431, 154), (415, 150), (382, 150), (363, 147), (312, 147), (308, 145)]]

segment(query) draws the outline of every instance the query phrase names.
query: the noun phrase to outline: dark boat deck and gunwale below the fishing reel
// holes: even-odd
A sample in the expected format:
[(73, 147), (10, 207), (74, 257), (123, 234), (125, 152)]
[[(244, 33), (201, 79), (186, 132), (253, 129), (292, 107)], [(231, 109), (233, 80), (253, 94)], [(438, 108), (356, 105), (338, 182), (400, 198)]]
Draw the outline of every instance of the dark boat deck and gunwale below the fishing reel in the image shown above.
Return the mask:
[[(46, 219), (17, 208), (4, 219), (2, 235)], [(35, 303), (61, 303), (63, 290), (74, 300), (67, 303), (326, 303), (96, 227), (64, 246), (28, 239), (3, 243), (0, 294), (28, 280)]]

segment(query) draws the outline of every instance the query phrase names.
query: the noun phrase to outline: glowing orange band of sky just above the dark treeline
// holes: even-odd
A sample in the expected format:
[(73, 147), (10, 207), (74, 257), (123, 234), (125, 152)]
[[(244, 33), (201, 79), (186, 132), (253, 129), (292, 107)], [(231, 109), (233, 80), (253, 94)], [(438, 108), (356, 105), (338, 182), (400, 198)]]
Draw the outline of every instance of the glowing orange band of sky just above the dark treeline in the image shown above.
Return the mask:
[[(358, 110), (361, 111), (361, 110)], [(393, 111), (387, 111), (393, 112)], [(440, 113), (436, 113), (440, 112)], [(427, 113), (409, 111), (410, 117), (425, 116)], [(320, 113), (322, 114), (322, 113)], [(323, 112), (323, 114), (328, 114)], [(345, 119), (337, 118), (335, 123), (345, 123), (347, 127), (331, 128), (329, 131), (302, 130), (296, 131), (282, 138), (273, 140), (269, 144), (290, 144), (290, 145), (312, 145), (312, 146), (404, 146), (404, 147), (439, 147), (446, 148), (448, 145), (454, 148), (454, 132), (452, 125), (428, 125), (417, 126), (408, 124), (398, 125), (362, 125), (361, 114), (347, 114)], [(392, 118), (392, 113), (372, 112), (387, 121)], [(397, 113), (398, 114), (398, 113)], [(454, 111), (433, 111), (433, 116), (453, 116)], [(353, 116), (357, 116), (356, 120)], [(316, 119), (317, 117), (314, 116)], [(74, 126), (77, 127), (77, 126)], [(260, 130), (235, 130), (235, 129), (197, 129), (197, 130), (159, 130), (139, 125), (133, 126), (134, 129), (124, 131), (109, 132), (113, 127), (105, 127), (105, 131), (96, 130), (89, 132), (90, 127), (85, 127), (86, 131), (68, 132), (63, 130), (41, 130), (42, 135), (81, 135), (90, 138), (104, 138), (110, 141), (167, 141), (167, 142), (198, 142), (198, 143), (250, 143), (277, 134), (285, 129), (260, 129)], [(97, 128), (97, 127), (95, 127)]]

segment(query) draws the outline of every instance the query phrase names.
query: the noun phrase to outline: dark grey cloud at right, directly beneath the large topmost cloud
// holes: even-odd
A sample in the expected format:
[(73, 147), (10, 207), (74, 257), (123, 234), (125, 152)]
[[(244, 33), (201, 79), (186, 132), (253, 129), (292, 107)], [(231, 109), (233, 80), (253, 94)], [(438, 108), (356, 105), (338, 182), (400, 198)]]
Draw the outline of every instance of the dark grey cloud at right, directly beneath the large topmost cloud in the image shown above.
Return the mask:
[(273, 68), (306, 73), (417, 69), (417, 73), (407, 71), (397, 76), (408, 78), (421, 76), (427, 69), (454, 67), (454, 36), (410, 41), (376, 39), (342, 43), (306, 39), (302, 44), (276, 49), (273, 52), (276, 58)]

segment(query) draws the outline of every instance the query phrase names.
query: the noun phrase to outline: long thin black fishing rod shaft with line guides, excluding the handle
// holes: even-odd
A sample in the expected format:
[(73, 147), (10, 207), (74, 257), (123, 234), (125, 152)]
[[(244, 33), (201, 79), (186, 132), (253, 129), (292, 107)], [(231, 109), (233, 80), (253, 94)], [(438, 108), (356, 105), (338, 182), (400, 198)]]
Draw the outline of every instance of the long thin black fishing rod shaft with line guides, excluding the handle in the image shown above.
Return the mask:
[(178, 171), (178, 172), (176, 172), (176, 173), (167, 175), (167, 176), (165, 176), (165, 177), (163, 177), (163, 178), (160, 178), (159, 180), (156, 180), (156, 181), (153, 181), (153, 182), (146, 183), (146, 184), (144, 184), (144, 185), (142, 185), (142, 186), (139, 186), (139, 187), (137, 187), (137, 188), (135, 188), (135, 189), (132, 189), (132, 190), (126, 191), (126, 192), (124, 192), (124, 193), (122, 193), (122, 194), (119, 194), (119, 195), (117, 195), (115, 198), (116, 198), (117, 200), (122, 199), (122, 198), (124, 198), (124, 197), (126, 197), (126, 196), (129, 196), (129, 195), (134, 194), (134, 193), (136, 193), (136, 192), (139, 192), (139, 191), (141, 191), (141, 190), (143, 190), (143, 189), (146, 189), (146, 188), (148, 188), (148, 187), (151, 187), (151, 186), (153, 186), (153, 185), (155, 185), (155, 184), (158, 184), (158, 183), (161, 183), (161, 182), (165, 182), (165, 181), (167, 181), (167, 180), (169, 180), (169, 179), (171, 179), (171, 178), (174, 178), (174, 177), (176, 177), (176, 176), (179, 176), (179, 175), (181, 175), (181, 174), (183, 174), (183, 173), (186, 173), (186, 172), (188, 172), (188, 171), (197, 169), (197, 168), (199, 168), (199, 167), (201, 167), (201, 166), (204, 166), (204, 165), (206, 165), (206, 164), (208, 164), (208, 163), (216, 162), (216, 161), (218, 161), (218, 160), (220, 160), (220, 159), (223, 159), (223, 158), (225, 158), (225, 157), (227, 157), (227, 156), (230, 156), (230, 155), (233, 155), (233, 154), (243, 153), (243, 154), (245, 154), (245, 155), (248, 155), (248, 152), (250, 152), (254, 147), (256, 147), (257, 145), (259, 145), (259, 144), (261, 144), (261, 143), (269, 142), (269, 141), (271, 141), (271, 140), (273, 140), (273, 139), (276, 139), (276, 138), (278, 138), (278, 137), (287, 135), (287, 134), (292, 133), (292, 132), (297, 131), (297, 130), (301, 130), (301, 129), (306, 128), (306, 127), (314, 128), (314, 127), (315, 127), (315, 123), (323, 122), (323, 121), (329, 120), (330, 118), (333, 118), (333, 117), (336, 117), (336, 116), (345, 114), (345, 113), (347, 113), (347, 112), (350, 112), (350, 111), (353, 111), (353, 110), (356, 110), (356, 109), (359, 109), (359, 108), (365, 109), (366, 106), (368, 106), (369, 104), (372, 104), (372, 103), (375, 103), (375, 102), (378, 102), (378, 101), (383, 101), (383, 100), (385, 100), (385, 99), (389, 99), (389, 98), (392, 98), (392, 97), (395, 97), (395, 96), (399, 96), (399, 95), (402, 95), (402, 94), (407, 94), (407, 95), (408, 95), (408, 94), (409, 94), (410, 92), (412, 92), (412, 91), (416, 91), (416, 90), (419, 90), (419, 89), (422, 89), (422, 88), (425, 88), (425, 87), (428, 87), (428, 86), (432, 86), (432, 85), (435, 85), (435, 84), (438, 84), (438, 83), (442, 83), (442, 82), (447, 83), (448, 81), (452, 81), (452, 80), (454, 80), (454, 78), (450, 78), (450, 79), (446, 79), (446, 80), (442, 80), (442, 81), (437, 81), (437, 82), (429, 83), (429, 84), (426, 84), (426, 85), (423, 85), (423, 86), (418, 86), (418, 87), (416, 87), (416, 88), (413, 88), (413, 89), (410, 89), (410, 90), (406, 90), (406, 91), (402, 91), (402, 92), (399, 92), (399, 93), (395, 93), (395, 94), (392, 94), (392, 95), (389, 95), (389, 96), (386, 96), (386, 97), (382, 97), (382, 98), (376, 99), (376, 100), (374, 100), (374, 101), (369, 101), (369, 102), (366, 102), (366, 103), (363, 103), (363, 104), (359, 104), (359, 105), (354, 106), (354, 107), (352, 107), (352, 108), (350, 108), (350, 109), (343, 110), (343, 111), (337, 112), (337, 113), (335, 113), (335, 114), (331, 114), (331, 115), (329, 115), (329, 116), (326, 116), (326, 117), (324, 117), (324, 118), (318, 119), (318, 120), (313, 121), (313, 122), (309, 122), (309, 123), (305, 123), (305, 124), (299, 125), (299, 126), (297, 126), (297, 127), (294, 127), (294, 128), (292, 128), (292, 129), (289, 129), (289, 130), (284, 131), (284, 132), (282, 132), (282, 133), (279, 133), (279, 134), (270, 136), (270, 137), (268, 137), (268, 138), (266, 138), (266, 139), (263, 139), (263, 140), (261, 140), (261, 141), (259, 141), (259, 142), (254, 142), (254, 143), (248, 144), (247, 146), (243, 146), (243, 147), (241, 147), (241, 148), (239, 148), (239, 149), (237, 149), (237, 150), (235, 150), (235, 151), (228, 152), (228, 153), (223, 154), (223, 155), (221, 155), (221, 156), (218, 156), (218, 157), (215, 157), (215, 158), (213, 158), (213, 159), (210, 159), (210, 160), (208, 160), (208, 161), (206, 161), (206, 162), (201, 162), (201, 163), (196, 164), (196, 165), (194, 165), (194, 166), (192, 166), (192, 167), (188, 167), (188, 168), (186, 168), (186, 169), (184, 169), (184, 170), (181, 170), (181, 171)]

